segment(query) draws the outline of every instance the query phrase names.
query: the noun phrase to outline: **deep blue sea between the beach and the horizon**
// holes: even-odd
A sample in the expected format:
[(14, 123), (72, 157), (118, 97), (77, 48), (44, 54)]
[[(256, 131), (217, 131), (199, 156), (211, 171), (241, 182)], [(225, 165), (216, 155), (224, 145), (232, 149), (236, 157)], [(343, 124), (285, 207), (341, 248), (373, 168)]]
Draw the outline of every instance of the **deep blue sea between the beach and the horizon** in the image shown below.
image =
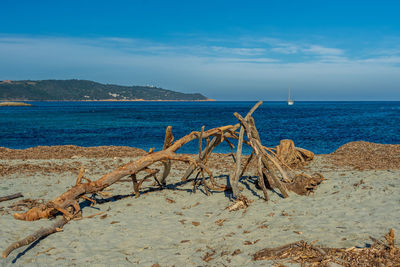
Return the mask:
[[(165, 128), (175, 138), (201, 129), (235, 124), (256, 102), (29, 102), (0, 107), (0, 146), (132, 146), (162, 148)], [(400, 143), (400, 102), (264, 102), (254, 113), (262, 142), (281, 139), (317, 154), (357, 140)], [(197, 142), (180, 152), (196, 153)], [(229, 146), (215, 152), (229, 152)], [(249, 153), (250, 150), (245, 150)]]

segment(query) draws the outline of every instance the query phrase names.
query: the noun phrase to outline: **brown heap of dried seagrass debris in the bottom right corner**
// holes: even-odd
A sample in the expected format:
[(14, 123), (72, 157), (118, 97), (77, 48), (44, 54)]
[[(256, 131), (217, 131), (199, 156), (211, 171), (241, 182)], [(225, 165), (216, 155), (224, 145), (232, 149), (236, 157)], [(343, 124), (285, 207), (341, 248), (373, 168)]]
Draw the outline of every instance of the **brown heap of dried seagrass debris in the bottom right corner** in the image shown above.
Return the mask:
[[(264, 248), (253, 260), (284, 260), (302, 266), (400, 266), (400, 249), (394, 244), (394, 230), (385, 235), (385, 242), (366, 248), (325, 248), (301, 240), (277, 248)], [(308, 265), (306, 265), (308, 264)]]

